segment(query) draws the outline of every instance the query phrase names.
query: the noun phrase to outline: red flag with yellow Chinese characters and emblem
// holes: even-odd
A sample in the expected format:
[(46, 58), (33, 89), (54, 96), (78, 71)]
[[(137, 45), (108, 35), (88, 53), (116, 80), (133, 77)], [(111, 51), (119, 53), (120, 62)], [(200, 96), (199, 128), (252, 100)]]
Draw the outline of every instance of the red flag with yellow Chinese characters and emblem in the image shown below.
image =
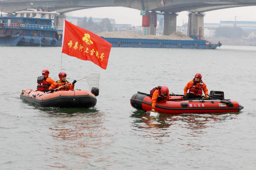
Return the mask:
[(111, 44), (98, 35), (64, 20), (62, 53), (89, 60), (105, 69)]

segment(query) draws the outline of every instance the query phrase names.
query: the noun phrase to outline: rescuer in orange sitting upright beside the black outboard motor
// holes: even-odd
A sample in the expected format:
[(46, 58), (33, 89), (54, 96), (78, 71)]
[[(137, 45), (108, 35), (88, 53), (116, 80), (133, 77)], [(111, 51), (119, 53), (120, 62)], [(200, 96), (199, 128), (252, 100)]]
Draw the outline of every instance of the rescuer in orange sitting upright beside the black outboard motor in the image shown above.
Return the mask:
[[(187, 94), (188, 90), (189, 92)], [(205, 97), (209, 98), (206, 84), (204, 84), (204, 82), (202, 81), (202, 74), (198, 72), (196, 73), (195, 78), (188, 82), (188, 84), (185, 86), (183, 98), (202, 98), (202, 90), (204, 90)]]

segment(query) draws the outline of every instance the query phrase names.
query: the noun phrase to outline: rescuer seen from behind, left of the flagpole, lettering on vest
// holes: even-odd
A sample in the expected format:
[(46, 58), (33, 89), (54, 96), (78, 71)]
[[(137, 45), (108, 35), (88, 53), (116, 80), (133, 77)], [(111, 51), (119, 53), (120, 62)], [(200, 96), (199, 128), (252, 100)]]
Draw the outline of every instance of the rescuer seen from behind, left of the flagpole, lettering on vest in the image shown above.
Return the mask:
[(50, 74), (49, 70), (42, 70), (42, 76), (37, 78), (37, 90), (42, 92), (48, 92), (49, 87), (55, 81), (48, 77)]

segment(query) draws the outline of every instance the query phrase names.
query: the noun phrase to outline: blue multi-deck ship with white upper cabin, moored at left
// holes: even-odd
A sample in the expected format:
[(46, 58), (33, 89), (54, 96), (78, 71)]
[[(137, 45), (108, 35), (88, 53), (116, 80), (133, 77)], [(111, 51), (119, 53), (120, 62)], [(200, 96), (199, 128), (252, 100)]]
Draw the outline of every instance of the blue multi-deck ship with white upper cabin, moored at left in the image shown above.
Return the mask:
[(54, 25), (55, 11), (28, 9), (0, 17), (0, 45), (61, 46), (62, 27)]

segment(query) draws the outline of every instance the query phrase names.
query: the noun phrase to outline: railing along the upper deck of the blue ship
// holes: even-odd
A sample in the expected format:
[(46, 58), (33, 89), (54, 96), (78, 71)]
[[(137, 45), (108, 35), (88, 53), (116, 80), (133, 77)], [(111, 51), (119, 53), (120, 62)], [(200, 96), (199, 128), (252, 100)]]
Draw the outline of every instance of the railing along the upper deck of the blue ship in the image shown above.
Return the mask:
[(24, 29), (46, 29), (46, 30), (62, 30), (62, 27), (53, 25), (37, 25), (28, 23), (3, 23), (6, 28), (24, 28)]

